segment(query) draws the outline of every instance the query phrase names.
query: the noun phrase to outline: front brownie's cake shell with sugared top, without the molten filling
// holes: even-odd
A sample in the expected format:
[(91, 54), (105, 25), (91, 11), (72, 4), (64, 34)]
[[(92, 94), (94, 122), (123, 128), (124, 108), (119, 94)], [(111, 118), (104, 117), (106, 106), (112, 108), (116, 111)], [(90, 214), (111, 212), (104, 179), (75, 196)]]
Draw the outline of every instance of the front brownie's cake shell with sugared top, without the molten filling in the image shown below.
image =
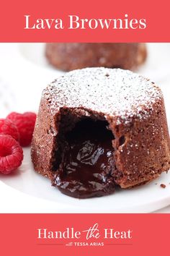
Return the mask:
[(151, 182), (169, 170), (170, 140), (160, 88), (126, 70), (89, 68), (69, 72), (43, 91), (32, 139), (35, 171), (53, 181), (59, 129), (72, 129), (84, 117), (108, 122), (115, 137), (113, 175), (120, 187)]

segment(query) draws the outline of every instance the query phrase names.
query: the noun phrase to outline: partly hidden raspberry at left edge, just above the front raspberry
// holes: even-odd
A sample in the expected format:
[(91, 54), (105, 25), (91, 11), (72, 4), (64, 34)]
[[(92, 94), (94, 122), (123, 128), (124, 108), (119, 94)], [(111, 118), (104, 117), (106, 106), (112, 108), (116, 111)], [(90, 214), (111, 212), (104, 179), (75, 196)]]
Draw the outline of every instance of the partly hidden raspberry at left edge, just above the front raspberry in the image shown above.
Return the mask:
[(11, 135), (15, 140), (19, 141), (19, 132), (15, 124), (8, 119), (0, 119), (0, 134)]

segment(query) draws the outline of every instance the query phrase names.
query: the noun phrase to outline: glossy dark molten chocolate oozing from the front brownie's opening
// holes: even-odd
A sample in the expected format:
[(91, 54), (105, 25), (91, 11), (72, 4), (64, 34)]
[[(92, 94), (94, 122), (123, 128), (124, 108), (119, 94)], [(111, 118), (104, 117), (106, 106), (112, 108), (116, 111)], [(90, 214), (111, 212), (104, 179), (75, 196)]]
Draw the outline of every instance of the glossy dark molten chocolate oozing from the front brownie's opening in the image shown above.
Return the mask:
[(85, 119), (66, 134), (53, 185), (71, 197), (99, 197), (115, 191), (112, 132), (107, 122)]

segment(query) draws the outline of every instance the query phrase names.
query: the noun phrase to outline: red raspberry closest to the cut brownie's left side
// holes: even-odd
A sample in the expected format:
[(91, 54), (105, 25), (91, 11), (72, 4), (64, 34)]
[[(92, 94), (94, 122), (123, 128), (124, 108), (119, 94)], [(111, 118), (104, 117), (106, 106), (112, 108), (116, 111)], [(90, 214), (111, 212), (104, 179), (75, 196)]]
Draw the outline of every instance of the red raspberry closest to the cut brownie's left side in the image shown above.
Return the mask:
[(32, 141), (32, 134), (34, 132), (36, 114), (32, 112), (25, 112), (24, 114), (19, 114), (12, 112), (6, 119), (10, 119), (17, 126), (20, 137), (20, 145), (27, 147)]

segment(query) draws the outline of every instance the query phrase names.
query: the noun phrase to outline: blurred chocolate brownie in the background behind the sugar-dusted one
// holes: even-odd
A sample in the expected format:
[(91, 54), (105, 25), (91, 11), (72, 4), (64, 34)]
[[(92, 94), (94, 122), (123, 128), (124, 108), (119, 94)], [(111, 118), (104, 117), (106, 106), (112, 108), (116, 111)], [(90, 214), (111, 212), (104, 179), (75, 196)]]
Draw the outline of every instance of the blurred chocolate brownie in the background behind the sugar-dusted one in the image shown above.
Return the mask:
[(84, 67), (136, 69), (146, 60), (145, 43), (47, 43), (45, 55), (65, 71)]

